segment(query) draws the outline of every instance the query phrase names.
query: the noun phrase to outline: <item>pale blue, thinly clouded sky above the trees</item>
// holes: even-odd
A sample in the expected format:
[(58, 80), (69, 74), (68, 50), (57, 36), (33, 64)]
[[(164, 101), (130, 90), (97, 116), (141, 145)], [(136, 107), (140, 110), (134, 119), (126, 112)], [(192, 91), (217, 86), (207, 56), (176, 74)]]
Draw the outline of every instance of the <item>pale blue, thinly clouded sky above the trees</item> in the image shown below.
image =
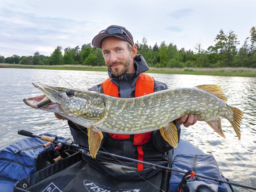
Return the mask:
[(91, 43), (110, 25), (125, 27), (134, 42), (207, 50), (222, 29), (240, 48), (256, 26), (255, 0), (0, 0), (0, 56), (50, 56)]

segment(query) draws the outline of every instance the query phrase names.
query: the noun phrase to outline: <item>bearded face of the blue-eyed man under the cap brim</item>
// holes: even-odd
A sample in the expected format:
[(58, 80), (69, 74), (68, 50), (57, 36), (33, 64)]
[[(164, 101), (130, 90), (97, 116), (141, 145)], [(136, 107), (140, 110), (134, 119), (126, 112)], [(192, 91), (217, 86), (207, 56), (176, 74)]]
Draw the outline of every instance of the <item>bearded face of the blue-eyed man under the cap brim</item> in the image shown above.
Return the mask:
[(101, 48), (106, 66), (114, 76), (120, 77), (122, 74), (129, 73), (133, 61), (132, 51), (128, 50), (127, 41), (107, 37), (102, 40)]

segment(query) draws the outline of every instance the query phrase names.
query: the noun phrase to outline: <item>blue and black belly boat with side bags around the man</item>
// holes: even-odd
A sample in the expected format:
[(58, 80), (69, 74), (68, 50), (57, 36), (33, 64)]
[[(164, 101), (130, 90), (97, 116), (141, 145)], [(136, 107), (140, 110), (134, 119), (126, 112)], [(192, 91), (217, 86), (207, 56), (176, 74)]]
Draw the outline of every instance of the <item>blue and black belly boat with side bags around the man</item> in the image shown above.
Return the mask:
[[(216, 186), (217, 191), (233, 191), (228, 180), (219, 171), (214, 157), (205, 154), (189, 141), (180, 140), (178, 147), (166, 154), (168, 165), (165, 169), (149, 162), (150, 173), (164, 169), (151, 178), (145, 179), (131, 170), (126, 175), (121, 174), (120, 179), (116, 180), (102, 175), (97, 166), (87, 164), (82, 159), (83, 149), (77, 150), (71, 146), (73, 142), (69, 138), (47, 133), (38, 137), (30, 136), (0, 151), (0, 191), (176, 192), (180, 184), (185, 186), (184, 191), (189, 191), (199, 186), (198, 182), (211, 186), (209, 191), (214, 191)], [(47, 143), (39, 137), (54, 140)], [(185, 174), (188, 175), (186, 178)]]

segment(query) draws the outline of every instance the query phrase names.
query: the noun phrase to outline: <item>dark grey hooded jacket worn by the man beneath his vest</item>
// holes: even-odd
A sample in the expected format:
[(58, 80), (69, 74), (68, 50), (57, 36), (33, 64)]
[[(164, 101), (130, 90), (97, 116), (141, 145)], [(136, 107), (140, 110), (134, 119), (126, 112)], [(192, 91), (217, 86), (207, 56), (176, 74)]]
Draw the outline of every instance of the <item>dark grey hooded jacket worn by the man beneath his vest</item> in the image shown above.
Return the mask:
[[(134, 68), (135, 68), (134, 74), (126, 73), (121, 77), (115, 77), (110, 71), (108, 71), (108, 74), (111, 77), (111, 81), (118, 86), (119, 95), (122, 98), (134, 97), (135, 84), (139, 74), (149, 69), (142, 55), (136, 55), (134, 59)], [(167, 89), (166, 84), (154, 80), (154, 92), (165, 90), (165, 89)], [(93, 86), (89, 90), (103, 92), (101, 84)], [(177, 127), (178, 138), (179, 138), (180, 126), (178, 126), (175, 121), (174, 123)], [(84, 133), (80, 129), (78, 129), (77, 126), (73, 124), (73, 122), (68, 121), (68, 124), (71, 130), (71, 134), (73, 136), (74, 142), (81, 146), (88, 147), (88, 136), (86, 135), (87, 129), (85, 127), (80, 126), (80, 129), (82, 129), (85, 132)], [(129, 139), (117, 140), (112, 138), (108, 133), (103, 132), (101, 147), (102, 148), (100, 148), (99, 150), (107, 151), (109, 153), (130, 157), (134, 159), (138, 158), (137, 146), (133, 145), (132, 135), (131, 135), (131, 138)], [(158, 165), (159, 164), (166, 165), (166, 158), (164, 153), (171, 150), (172, 148), (173, 147), (170, 146), (164, 140), (159, 130), (153, 131), (150, 141), (142, 145), (142, 149), (144, 152), (143, 160), (147, 162), (154, 162), (155, 164), (158, 164)], [(98, 153), (96, 159), (100, 161), (111, 162), (111, 160), (109, 159), (111, 157), (108, 156), (106, 159), (101, 158), (103, 156), (104, 155)], [(119, 162), (116, 162), (116, 163), (120, 164)], [(136, 167), (136, 165), (131, 165), (131, 164), (127, 164), (127, 166)]]

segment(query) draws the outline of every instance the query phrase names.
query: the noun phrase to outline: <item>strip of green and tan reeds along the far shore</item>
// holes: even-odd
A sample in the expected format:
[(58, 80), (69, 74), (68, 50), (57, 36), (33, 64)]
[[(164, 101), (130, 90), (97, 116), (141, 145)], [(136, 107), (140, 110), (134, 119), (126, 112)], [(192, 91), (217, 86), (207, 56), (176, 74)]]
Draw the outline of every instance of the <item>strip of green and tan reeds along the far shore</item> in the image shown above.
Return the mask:
[[(84, 66), (84, 65), (20, 65), (0, 63), (0, 68), (19, 69), (55, 69), (55, 70), (77, 70), (77, 71), (107, 71), (106, 66)], [(246, 67), (224, 67), (224, 68), (154, 68), (150, 67), (147, 73), (164, 74), (189, 74), (189, 75), (210, 75), (229, 77), (256, 77), (256, 68)]]

